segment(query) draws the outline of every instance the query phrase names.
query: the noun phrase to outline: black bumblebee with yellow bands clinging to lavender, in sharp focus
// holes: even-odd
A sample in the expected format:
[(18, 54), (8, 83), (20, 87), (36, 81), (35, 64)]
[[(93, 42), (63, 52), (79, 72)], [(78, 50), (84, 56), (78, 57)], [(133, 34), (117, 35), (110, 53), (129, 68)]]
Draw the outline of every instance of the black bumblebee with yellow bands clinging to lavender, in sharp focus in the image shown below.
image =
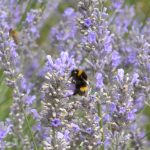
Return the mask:
[(70, 77), (75, 85), (74, 94), (84, 95), (88, 91), (87, 75), (84, 70), (74, 69), (71, 71)]

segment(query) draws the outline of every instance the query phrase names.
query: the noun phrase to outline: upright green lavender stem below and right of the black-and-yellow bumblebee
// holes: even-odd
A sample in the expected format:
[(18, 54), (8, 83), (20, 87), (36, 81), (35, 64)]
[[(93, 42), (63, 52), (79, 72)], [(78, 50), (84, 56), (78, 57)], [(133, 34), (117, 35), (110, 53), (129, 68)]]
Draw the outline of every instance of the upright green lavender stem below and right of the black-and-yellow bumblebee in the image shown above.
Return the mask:
[(98, 102), (97, 103), (97, 110), (98, 110), (98, 116), (100, 117), (100, 121), (99, 121), (99, 126), (100, 126), (100, 131), (102, 133), (102, 146), (101, 146), (101, 150), (104, 150), (104, 132), (103, 132), (103, 120), (102, 120), (102, 112), (101, 112), (101, 105), (100, 103)]

